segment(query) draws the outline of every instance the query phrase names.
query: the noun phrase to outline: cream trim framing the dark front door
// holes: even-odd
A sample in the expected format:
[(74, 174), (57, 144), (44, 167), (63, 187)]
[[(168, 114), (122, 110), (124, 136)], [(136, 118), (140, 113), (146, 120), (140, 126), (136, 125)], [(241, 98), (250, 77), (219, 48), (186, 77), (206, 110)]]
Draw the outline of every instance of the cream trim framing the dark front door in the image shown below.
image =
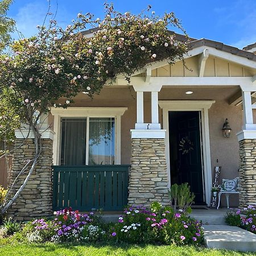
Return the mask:
[(200, 111), (201, 112), (201, 132), (203, 141), (203, 166), (204, 166), (204, 185), (205, 185), (205, 203), (210, 205), (210, 191), (212, 189), (212, 166), (210, 161), (210, 135), (208, 109), (215, 101), (158, 101), (160, 108), (163, 109), (163, 129), (167, 130), (166, 143), (166, 162), (168, 172), (168, 185), (170, 180), (170, 144), (169, 144), (169, 111)]

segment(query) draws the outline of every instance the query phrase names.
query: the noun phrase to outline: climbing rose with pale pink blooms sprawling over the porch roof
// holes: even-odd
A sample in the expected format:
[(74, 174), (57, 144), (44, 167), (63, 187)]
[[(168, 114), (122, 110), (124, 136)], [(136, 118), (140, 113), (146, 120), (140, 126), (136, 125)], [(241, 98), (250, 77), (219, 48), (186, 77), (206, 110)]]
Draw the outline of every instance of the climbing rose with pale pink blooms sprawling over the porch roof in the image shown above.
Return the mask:
[[(183, 60), (187, 47), (167, 29), (172, 25), (183, 30), (174, 13), (162, 18), (147, 11), (121, 14), (112, 5), (105, 5), (105, 12), (104, 19), (78, 14), (65, 29), (50, 20), (1, 57), (1, 89), (10, 90), (10, 104), (19, 106), (25, 121), (30, 123), (35, 110), (47, 112), (60, 98), (65, 108), (81, 91), (93, 97), (120, 73), (129, 80), (149, 63)], [(92, 26), (97, 27), (93, 37), (82, 34)]]

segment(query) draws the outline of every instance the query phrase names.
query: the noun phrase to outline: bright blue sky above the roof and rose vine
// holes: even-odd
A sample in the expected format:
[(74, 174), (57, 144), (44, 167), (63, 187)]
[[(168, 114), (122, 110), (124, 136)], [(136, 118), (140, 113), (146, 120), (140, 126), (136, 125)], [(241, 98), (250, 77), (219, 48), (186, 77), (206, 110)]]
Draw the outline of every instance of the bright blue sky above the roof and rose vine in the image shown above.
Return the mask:
[[(102, 0), (51, 0), (57, 21), (67, 26), (77, 13), (104, 15)], [(148, 5), (156, 15), (174, 11), (192, 38), (207, 38), (242, 48), (256, 42), (256, 0), (113, 0), (115, 9), (138, 14)], [(24, 36), (34, 35), (42, 24), (48, 0), (14, 0), (9, 16), (16, 20)]]

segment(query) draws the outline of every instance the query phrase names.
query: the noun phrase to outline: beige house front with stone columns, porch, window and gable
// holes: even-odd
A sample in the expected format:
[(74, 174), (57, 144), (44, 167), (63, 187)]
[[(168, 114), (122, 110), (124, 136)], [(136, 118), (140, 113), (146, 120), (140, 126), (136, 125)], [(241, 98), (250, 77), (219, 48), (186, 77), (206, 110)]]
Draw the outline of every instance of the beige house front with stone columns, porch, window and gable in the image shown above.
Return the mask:
[[(120, 75), (93, 100), (81, 92), (69, 108), (52, 108), (40, 124), (38, 167), (9, 214), (26, 220), (68, 206), (167, 205), (170, 185), (184, 182), (195, 204), (210, 206), (214, 166), (222, 168), (220, 180), (240, 177), (240, 198), (230, 205), (255, 204), (255, 52), (255, 44), (241, 50), (192, 39), (187, 68), (159, 61), (134, 73), (130, 84)], [(229, 138), (222, 135), (226, 118)], [(16, 146), (26, 133), (16, 131)], [(26, 145), (14, 154), (11, 179), (31, 156), (31, 137)]]

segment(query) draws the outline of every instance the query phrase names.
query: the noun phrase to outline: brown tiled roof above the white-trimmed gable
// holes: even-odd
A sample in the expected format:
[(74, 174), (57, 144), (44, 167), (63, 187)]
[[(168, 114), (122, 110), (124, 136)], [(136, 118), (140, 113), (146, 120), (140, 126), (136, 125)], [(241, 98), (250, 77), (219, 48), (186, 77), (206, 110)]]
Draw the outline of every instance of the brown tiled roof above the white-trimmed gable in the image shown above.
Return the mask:
[[(89, 35), (89, 34), (93, 34), (96, 31), (98, 31), (97, 27), (82, 31), (81, 33), (82, 33), (82, 35)], [(205, 39), (205, 38), (202, 38), (202, 39), (187, 38), (187, 36), (177, 34), (174, 31), (170, 31), (170, 34), (175, 34), (175, 38), (181, 42), (187, 42), (189, 39), (188, 49), (194, 49), (194, 48), (201, 47), (201, 46), (208, 46), (208, 47), (216, 48), (220, 51), (232, 53), (233, 55), (245, 57), (249, 60), (256, 61), (256, 55), (253, 52), (247, 51), (247, 49), (252, 49), (252, 48), (256, 47), (256, 43), (250, 44), (250, 46), (246, 46), (243, 49), (238, 49), (237, 47), (228, 46), (227, 44), (209, 40), (209, 39)]]

